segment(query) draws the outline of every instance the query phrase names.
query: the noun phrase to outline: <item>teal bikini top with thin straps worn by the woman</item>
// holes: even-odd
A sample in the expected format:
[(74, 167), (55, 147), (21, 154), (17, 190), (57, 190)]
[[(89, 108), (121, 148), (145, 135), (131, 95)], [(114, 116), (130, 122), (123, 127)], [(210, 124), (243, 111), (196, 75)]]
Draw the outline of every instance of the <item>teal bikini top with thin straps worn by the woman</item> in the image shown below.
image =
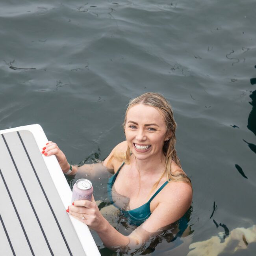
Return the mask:
[[(124, 166), (124, 163), (122, 163), (122, 165), (119, 167), (118, 171), (111, 176), (111, 178), (109, 178), (108, 181), (108, 197), (110, 202), (120, 208), (119, 206), (115, 205), (115, 202), (113, 201), (112, 198), (112, 187), (113, 184), (115, 182), (115, 179), (117, 178), (117, 175), (119, 173), (119, 171), (121, 170), (121, 168)], [(151, 211), (150, 211), (150, 202), (154, 199), (154, 197), (156, 197), (156, 195), (163, 189), (163, 187), (165, 187), (168, 184), (168, 181), (166, 181), (157, 191), (156, 193), (154, 193), (154, 195), (148, 200), (148, 202), (146, 204), (143, 204), (142, 206), (133, 209), (133, 210), (129, 210), (129, 211), (125, 211), (123, 209), (121, 210), (122, 215), (124, 215), (124, 217), (128, 218), (130, 224), (134, 224), (136, 226), (139, 226), (140, 224), (142, 224), (150, 215), (151, 215)]]

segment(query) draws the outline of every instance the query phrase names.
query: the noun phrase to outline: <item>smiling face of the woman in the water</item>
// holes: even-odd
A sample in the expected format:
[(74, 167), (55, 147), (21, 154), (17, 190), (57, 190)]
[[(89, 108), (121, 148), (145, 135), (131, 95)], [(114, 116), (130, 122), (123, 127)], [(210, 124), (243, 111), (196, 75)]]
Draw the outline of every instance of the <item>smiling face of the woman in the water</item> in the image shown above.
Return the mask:
[(151, 106), (137, 104), (126, 116), (125, 135), (128, 146), (135, 158), (159, 158), (163, 156), (166, 125), (160, 112)]

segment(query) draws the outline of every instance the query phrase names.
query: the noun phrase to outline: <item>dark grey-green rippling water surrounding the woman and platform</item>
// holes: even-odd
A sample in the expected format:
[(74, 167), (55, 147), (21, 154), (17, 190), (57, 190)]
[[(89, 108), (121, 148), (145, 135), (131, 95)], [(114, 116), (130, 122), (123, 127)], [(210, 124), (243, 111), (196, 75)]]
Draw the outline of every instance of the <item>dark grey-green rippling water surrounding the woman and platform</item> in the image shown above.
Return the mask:
[[(191, 232), (183, 247), (162, 238), (144, 254), (187, 255), (219, 232), (224, 243), (256, 224), (255, 9), (253, 0), (2, 0), (0, 129), (39, 123), (70, 163), (103, 160), (124, 140), (130, 98), (162, 93), (193, 183)], [(102, 204), (106, 181), (94, 181)], [(102, 255), (116, 255), (93, 236)]]

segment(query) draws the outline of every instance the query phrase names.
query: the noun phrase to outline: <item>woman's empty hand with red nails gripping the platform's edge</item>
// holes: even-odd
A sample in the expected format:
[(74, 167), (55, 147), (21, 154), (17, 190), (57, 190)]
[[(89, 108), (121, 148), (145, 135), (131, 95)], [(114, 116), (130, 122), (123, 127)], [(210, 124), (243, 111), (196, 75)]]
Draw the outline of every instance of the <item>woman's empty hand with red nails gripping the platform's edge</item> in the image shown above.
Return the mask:
[(42, 154), (45, 156), (55, 155), (63, 173), (67, 173), (67, 171), (69, 171), (70, 165), (67, 161), (67, 158), (65, 154), (59, 149), (56, 143), (48, 141), (45, 147), (43, 147)]

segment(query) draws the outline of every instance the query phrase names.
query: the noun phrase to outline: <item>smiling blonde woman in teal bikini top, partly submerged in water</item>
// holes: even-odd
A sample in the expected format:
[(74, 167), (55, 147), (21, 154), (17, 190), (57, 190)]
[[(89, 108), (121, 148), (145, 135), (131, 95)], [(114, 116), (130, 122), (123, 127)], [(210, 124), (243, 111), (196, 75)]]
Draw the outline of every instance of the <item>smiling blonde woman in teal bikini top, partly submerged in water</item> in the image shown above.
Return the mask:
[(138, 226), (129, 236), (108, 223), (94, 199), (75, 201), (67, 212), (95, 230), (106, 247), (127, 251), (179, 220), (191, 206), (192, 187), (176, 155), (173, 111), (162, 95), (145, 93), (131, 100), (123, 127), (126, 141), (118, 144), (102, 164), (71, 166), (51, 141), (42, 153), (56, 155), (63, 173), (69, 175), (95, 174), (102, 165), (114, 173), (108, 183), (110, 200)]

